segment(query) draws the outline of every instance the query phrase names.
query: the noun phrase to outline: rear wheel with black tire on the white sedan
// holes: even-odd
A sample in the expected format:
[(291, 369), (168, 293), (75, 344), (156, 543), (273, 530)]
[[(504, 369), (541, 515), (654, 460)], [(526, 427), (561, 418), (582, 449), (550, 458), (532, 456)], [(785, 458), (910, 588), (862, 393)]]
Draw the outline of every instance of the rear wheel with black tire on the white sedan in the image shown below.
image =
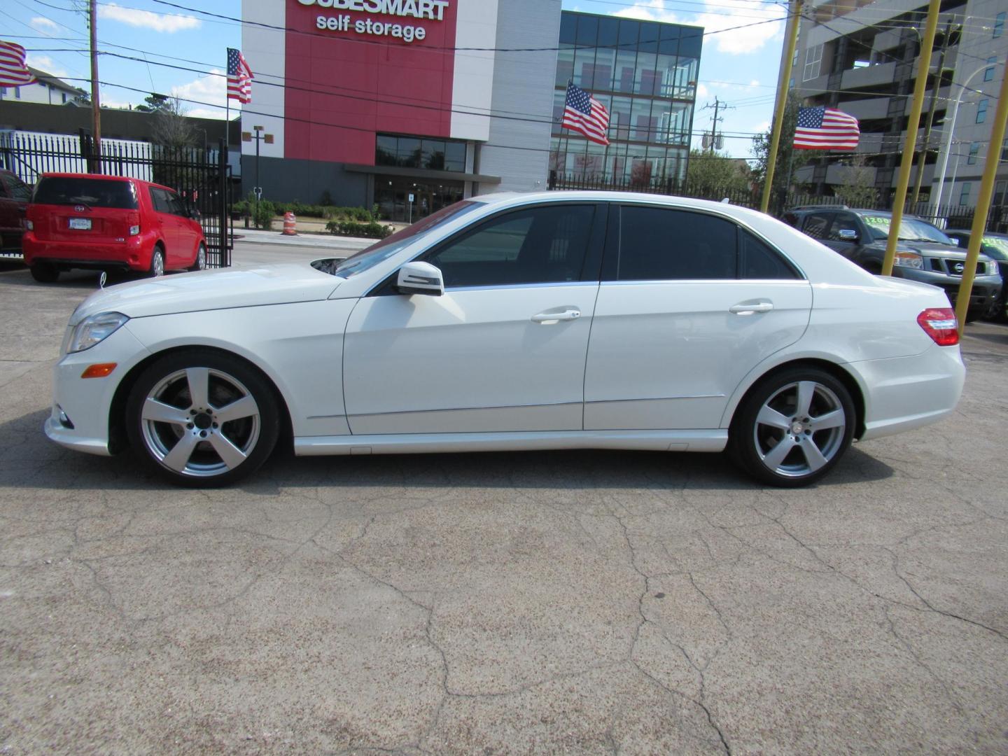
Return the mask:
[[(834, 424), (838, 420), (843, 426)], [(729, 448), (757, 480), (798, 488), (834, 468), (851, 446), (856, 422), (851, 393), (837, 378), (818, 368), (788, 368), (763, 378), (746, 394), (732, 420)], [(778, 447), (782, 457), (774, 451)]]

